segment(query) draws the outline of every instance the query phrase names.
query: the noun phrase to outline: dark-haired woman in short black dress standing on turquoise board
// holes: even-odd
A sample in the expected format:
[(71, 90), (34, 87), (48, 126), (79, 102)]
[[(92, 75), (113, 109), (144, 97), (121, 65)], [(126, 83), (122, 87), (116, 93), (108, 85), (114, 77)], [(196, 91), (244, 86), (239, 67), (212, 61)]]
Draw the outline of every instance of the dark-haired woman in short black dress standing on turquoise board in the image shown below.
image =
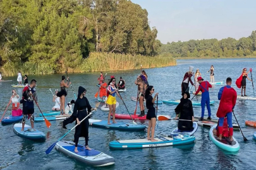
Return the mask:
[[(155, 92), (155, 89), (153, 86), (149, 86), (149, 88), (147, 88), (145, 91), (146, 106), (148, 109), (147, 120), (149, 120), (149, 127), (147, 128), (147, 140), (151, 140), (152, 142), (157, 141), (154, 139), (155, 123), (156, 123), (154, 102), (155, 102), (155, 98), (157, 97), (158, 93), (155, 93), (155, 96), (153, 98), (152, 94), (154, 92)], [(151, 130), (151, 135), (150, 135), (150, 130)]]

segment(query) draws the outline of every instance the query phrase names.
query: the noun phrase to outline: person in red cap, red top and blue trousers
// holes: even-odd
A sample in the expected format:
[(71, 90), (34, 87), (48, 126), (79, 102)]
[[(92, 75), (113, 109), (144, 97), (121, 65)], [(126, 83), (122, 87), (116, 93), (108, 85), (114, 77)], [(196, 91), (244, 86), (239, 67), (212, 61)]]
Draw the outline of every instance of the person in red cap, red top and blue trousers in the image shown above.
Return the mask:
[(202, 114), (199, 121), (204, 120), (204, 108), (205, 104), (207, 106), (208, 110), (208, 118), (207, 120), (211, 120), (210, 118), (210, 95), (209, 95), (209, 88), (212, 88), (212, 85), (208, 81), (204, 81), (204, 79), (200, 76), (197, 78), (197, 81), (199, 82), (199, 86), (197, 89), (197, 92), (195, 95), (197, 95), (200, 91), (202, 91), (202, 99), (201, 99), (201, 108), (202, 108)]

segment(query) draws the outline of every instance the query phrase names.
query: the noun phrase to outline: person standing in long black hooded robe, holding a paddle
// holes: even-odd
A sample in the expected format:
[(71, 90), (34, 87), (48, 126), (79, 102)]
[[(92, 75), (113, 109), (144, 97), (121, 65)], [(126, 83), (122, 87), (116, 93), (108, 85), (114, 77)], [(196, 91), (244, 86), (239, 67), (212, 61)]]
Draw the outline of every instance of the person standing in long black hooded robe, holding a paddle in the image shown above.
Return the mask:
[(75, 101), (74, 112), (73, 112), (73, 116), (75, 116), (76, 123), (78, 124), (78, 126), (75, 128), (75, 135), (74, 135), (76, 153), (78, 153), (77, 145), (78, 145), (79, 137), (85, 138), (85, 149), (91, 150), (90, 147), (88, 146), (89, 118), (87, 117), (82, 123), (80, 123), (80, 121), (83, 120), (83, 118), (85, 118), (88, 115), (87, 110), (88, 112), (92, 110), (96, 110), (96, 108), (92, 108), (92, 106), (90, 106), (88, 99), (85, 97), (86, 91), (87, 90), (85, 88), (83, 88), (82, 86), (79, 86), (78, 98)]

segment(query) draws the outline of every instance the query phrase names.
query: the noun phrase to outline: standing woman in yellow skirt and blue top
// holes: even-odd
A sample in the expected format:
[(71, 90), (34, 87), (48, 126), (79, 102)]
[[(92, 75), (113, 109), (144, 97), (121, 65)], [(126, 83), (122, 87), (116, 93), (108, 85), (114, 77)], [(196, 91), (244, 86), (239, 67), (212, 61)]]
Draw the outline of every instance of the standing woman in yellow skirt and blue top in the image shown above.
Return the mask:
[(116, 87), (116, 79), (114, 77), (112, 77), (109, 81), (109, 84), (108, 84), (108, 87), (107, 87), (107, 105), (109, 105), (109, 115), (108, 115), (108, 118), (107, 118), (107, 124), (111, 124), (110, 123), (110, 116), (111, 116), (111, 113), (113, 114), (113, 123), (116, 123), (116, 117), (115, 117), (115, 114), (116, 114), (116, 94), (118, 95), (118, 97), (120, 99), (121, 96), (120, 94), (118, 93), (118, 88)]

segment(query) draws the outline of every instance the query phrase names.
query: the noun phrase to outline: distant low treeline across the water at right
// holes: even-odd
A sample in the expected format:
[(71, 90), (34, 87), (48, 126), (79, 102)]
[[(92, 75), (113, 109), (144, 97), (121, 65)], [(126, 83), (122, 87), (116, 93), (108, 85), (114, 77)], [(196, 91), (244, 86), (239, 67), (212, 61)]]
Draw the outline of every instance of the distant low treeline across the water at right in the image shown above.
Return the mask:
[(224, 38), (222, 40), (189, 40), (162, 44), (161, 53), (173, 57), (245, 57), (256, 56), (256, 31), (245, 38)]

